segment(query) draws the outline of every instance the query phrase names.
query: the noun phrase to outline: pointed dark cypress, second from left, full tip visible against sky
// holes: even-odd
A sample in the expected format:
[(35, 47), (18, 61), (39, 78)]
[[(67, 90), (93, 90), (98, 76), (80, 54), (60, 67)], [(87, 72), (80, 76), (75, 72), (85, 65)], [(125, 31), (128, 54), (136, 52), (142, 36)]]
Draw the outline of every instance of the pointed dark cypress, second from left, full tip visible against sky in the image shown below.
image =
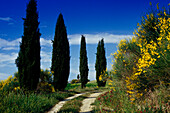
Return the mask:
[(70, 50), (63, 15), (60, 14), (56, 23), (53, 42), (52, 67), (54, 71), (54, 87), (64, 90), (70, 73)]

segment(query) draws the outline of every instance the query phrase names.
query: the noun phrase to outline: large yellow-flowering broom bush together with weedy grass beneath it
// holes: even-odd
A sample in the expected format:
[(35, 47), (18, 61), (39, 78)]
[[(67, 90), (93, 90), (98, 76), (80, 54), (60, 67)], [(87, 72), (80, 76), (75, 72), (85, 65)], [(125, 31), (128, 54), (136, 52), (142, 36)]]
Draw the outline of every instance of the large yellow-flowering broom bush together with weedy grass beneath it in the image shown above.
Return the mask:
[(169, 11), (160, 10), (157, 5), (157, 10), (143, 17), (137, 26), (133, 38), (121, 40), (118, 51), (112, 54), (115, 59), (111, 74), (113, 82), (108, 81), (112, 90), (96, 100), (99, 107), (96, 111), (170, 110)]

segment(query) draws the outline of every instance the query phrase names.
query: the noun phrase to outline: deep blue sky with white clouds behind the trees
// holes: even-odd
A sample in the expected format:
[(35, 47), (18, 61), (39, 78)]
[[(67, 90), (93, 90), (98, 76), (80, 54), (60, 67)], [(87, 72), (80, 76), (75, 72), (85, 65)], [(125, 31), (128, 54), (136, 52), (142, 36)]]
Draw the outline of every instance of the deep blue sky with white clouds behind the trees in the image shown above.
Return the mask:
[[(14, 64), (23, 35), (23, 20), (29, 0), (0, 0), (0, 80), (17, 71)], [(104, 38), (107, 67), (117, 43), (130, 38), (141, 16), (153, 6), (167, 6), (169, 0), (38, 0), (41, 36), (41, 68), (51, 66), (51, 40), (62, 13), (70, 42), (71, 70), (69, 80), (79, 73), (80, 37), (85, 35), (89, 64), (89, 79), (95, 79), (97, 43)]]

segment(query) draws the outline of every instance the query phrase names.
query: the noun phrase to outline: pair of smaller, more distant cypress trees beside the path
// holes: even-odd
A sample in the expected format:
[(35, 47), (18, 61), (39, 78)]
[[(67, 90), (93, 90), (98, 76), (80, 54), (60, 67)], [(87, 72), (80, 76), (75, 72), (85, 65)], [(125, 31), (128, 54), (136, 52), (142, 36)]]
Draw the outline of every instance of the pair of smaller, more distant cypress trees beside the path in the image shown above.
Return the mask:
[[(104, 40), (98, 42), (97, 53), (96, 53), (96, 80), (97, 85), (99, 87), (104, 87), (106, 85), (106, 81), (99, 80), (99, 76), (106, 71), (106, 57), (105, 57), (105, 48), (104, 48)], [(85, 37), (82, 35), (81, 37), (81, 47), (80, 47), (80, 81), (81, 87), (84, 88), (86, 83), (88, 82), (88, 59), (86, 52), (86, 41)]]

